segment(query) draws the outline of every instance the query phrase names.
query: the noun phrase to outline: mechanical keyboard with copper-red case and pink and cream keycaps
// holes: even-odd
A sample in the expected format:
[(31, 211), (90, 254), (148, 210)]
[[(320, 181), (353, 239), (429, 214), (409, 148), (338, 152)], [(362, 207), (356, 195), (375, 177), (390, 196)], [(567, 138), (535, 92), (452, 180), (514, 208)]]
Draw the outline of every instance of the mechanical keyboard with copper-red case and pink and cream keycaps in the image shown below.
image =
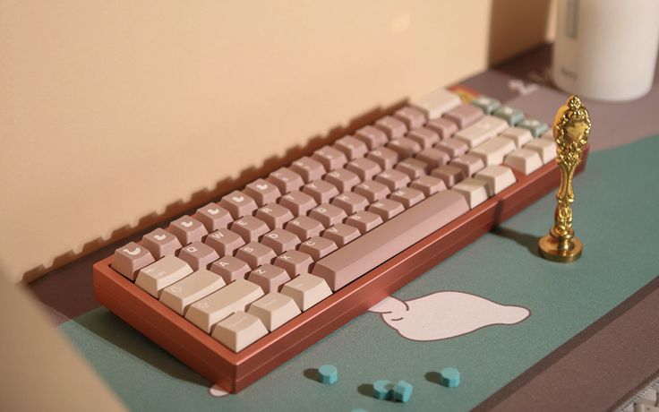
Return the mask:
[(240, 391), (551, 191), (555, 157), (547, 124), (434, 90), (119, 247), (94, 294)]

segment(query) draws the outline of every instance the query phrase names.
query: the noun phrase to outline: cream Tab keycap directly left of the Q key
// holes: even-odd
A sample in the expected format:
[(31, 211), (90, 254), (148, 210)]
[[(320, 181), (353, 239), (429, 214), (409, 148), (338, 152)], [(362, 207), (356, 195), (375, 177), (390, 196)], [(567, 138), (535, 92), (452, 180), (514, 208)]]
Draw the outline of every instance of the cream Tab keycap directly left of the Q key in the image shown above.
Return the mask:
[(187, 262), (167, 254), (158, 262), (142, 268), (137, 274), (135, 285), (142, 288), (150, 296), (158, 297), (162, 289), (184, 279), (192, 272), (193, 268)]

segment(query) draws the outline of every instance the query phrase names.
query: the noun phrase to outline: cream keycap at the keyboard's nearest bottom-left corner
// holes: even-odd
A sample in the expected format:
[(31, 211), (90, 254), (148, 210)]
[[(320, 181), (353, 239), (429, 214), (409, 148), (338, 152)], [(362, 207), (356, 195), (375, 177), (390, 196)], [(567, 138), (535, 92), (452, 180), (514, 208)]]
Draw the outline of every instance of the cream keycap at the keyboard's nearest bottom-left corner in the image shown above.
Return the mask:
[(268, 330), (257, 316), (236, 312), (219, 322), (211, 336), (237, 353), (267, 334)]

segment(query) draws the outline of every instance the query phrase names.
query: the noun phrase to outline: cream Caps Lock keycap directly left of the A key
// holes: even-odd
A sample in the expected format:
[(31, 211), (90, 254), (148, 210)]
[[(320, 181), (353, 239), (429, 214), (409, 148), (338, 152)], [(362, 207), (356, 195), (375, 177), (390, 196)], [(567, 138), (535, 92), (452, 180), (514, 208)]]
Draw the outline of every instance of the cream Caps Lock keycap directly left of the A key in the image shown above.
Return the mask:
[(163, 289), (160, 294), (160, 302), (183, 316), (188, 305), (202, 297), (209, 296), (225, 285), (224, 279), (218, 274), (205, 269), (197, 270), (174, 285)]

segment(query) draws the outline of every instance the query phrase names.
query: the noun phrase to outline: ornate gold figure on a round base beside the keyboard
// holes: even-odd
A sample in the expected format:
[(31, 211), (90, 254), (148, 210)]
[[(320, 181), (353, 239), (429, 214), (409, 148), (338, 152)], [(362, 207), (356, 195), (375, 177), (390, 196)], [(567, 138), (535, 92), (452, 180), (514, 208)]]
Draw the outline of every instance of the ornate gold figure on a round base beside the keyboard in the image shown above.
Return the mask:
[(574, 262), (583, 250), (581, 241), (572, 230), (572, 178), (581, 163), (590, 125), (588, 110), (577, 96), (570, 96), (554, 117), (553, 136), (556, 139), (556, 164), (561, 170), (561, 185), (556, 193), (558, 204), (554, 225), (549, 235), (543, 236), (538, 243), (540, 254), (550, 261)]

